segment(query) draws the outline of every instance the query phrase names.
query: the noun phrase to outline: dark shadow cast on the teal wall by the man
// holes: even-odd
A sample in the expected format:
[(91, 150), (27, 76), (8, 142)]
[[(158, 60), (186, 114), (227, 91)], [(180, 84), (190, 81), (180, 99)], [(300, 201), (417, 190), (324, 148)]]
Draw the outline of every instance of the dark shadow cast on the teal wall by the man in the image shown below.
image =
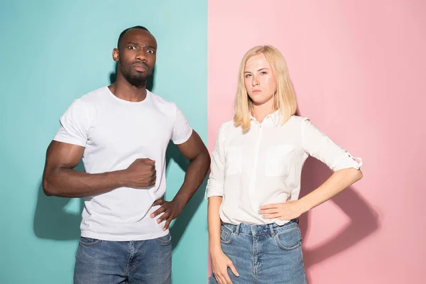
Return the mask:
[[(111, 83), (116, 80), (116, 73), (110, 75)], [(147, 89), (153, 89), (153, 76), (147, 82)], [(166, 151), (166, 176), (168, 175), (168, 167), (170, 160), (175, 160), (176, 163), (186, 172), (189, 165), (188, 160), (180, 153), (178, 147), (172, 142), (169, 143)], [(75, 168), (75, 170), (84, 171), (82, 161)], [(178, 246), (180, 238), (185, 232), (192, 216), (197, 211), (198, 207), (204, 199), (204, 189), (207, 185), (207, 178), (199, 187), (197, 192), (192, 196), (192, 199), (183, 209), (182, 213), (175, 220), (172, 227), (170, 227), (170, 234), (173, 235), (173, 248)], [(40, 239), (53, 239), (53, 240), (77, 240), (80, 239), (80, 222), (81, 212), (84, 207), (82, 199), (78, 199), (79, 213), (67, 212), (65, 207), (70, 203), (70, 198), (64, 197), (46, 197), (43, 192), (43, 186), (40, 184), (37, 188), (38, 197), (35, 207), (35, 214), (33, 220), (33, 231), (35, 236)], [(167, 194), (166, 194), (167, 195)], [(167, 198), (166, 200), (171, 200)]]

